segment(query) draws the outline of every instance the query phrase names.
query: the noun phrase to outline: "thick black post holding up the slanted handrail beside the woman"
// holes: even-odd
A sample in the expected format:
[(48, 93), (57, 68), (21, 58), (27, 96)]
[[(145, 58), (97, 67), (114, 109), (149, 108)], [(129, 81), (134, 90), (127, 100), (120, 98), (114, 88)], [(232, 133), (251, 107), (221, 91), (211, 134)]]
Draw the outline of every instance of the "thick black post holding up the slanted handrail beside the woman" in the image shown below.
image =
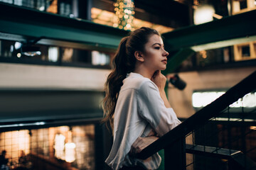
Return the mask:
[(186, 169), (186, 141), (185, 137), (177, 140), (173, 145), (164, 148), (164, 169)]

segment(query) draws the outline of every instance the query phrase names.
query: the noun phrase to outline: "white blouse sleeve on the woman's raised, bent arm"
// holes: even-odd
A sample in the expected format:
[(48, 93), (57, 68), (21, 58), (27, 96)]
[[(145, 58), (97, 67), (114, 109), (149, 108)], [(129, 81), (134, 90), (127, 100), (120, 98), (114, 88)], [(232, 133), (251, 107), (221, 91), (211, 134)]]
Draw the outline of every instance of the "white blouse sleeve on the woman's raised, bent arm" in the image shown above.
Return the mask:
[(166, 134), (178, 124), (176, 113), (172, 108), (166, 108), (159, 89), (152, 81), (145, 81), (137, 93), (139, 114), (144, 118), (159, 136)]

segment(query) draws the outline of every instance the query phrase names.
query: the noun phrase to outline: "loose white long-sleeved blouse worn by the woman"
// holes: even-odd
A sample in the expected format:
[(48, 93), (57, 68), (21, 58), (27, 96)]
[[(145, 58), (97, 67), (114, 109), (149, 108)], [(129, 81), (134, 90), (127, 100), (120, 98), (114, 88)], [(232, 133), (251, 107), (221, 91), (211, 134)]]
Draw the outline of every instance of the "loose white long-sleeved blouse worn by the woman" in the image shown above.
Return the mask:
[(172, 108), (166, 108), (159, 89), (141, 74), (130, 73), (124, 79), (114, 110), (114, 141), (106, 163), (114, 170), (122, 166), (144, 166), (157, 169), (161, 163), (159, 154), (146, 160), (129, 154), (138, 137), (146, 137), (154, 130), (162, 136), (181, 122)]

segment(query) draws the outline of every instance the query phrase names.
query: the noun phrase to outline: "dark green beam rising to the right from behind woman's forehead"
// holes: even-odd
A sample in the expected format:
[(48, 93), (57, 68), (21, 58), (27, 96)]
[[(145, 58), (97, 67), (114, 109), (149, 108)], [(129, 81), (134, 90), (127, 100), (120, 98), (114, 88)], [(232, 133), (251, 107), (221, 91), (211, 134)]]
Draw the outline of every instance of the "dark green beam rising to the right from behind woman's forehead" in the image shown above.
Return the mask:
[(256, 40), (255, 19), (256, 10), (164, 33), (166, 50), (200, 51)]

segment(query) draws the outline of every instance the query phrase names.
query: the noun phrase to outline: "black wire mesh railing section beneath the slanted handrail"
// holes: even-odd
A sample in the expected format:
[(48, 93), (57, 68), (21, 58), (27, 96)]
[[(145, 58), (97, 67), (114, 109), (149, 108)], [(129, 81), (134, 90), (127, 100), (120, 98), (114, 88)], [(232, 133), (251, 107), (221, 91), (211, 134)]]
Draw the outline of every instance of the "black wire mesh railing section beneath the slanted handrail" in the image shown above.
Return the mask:
[(246, 96), (186, 136), (186, 169), (256, 169), (255, 92)]

